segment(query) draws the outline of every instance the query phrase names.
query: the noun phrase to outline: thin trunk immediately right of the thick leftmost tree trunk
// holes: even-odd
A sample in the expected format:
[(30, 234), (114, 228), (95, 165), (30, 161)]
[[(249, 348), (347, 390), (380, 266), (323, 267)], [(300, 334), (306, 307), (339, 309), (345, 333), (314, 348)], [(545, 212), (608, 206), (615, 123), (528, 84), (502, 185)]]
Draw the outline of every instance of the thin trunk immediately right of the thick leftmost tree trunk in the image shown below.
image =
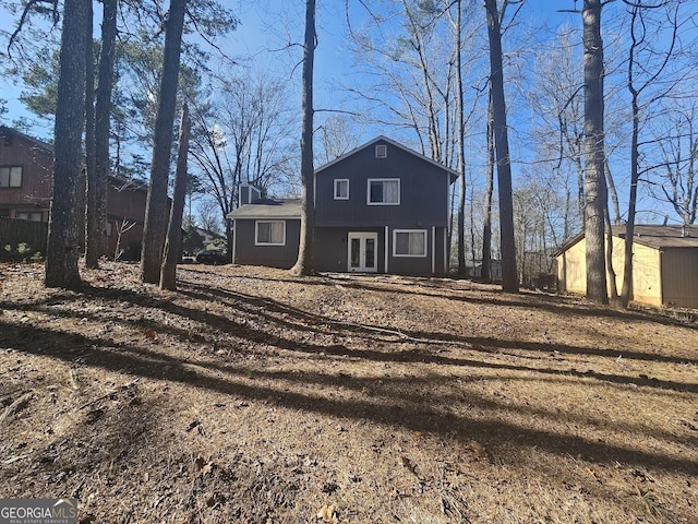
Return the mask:
[[(98, 235), (96, 224), (96, 188), (97, 159), (95, 157), (95, 56), (93, 51), (93, 7), (89, 2), (87, 24), (85, 26), (85, 265), (97, 267), (99, 265), (99, 252), (95, 250), (95, 233)], [(92, 238), (91, 238), (92, 237)]]

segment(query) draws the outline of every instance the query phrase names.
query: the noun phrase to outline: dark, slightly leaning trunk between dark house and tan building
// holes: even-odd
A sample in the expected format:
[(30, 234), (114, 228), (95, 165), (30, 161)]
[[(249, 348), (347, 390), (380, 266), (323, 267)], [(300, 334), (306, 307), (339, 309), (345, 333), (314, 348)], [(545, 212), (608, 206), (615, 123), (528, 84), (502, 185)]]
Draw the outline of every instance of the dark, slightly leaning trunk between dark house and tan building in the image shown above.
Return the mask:
[(488, 36), (490, 40), (490, 85), (492, 86), (492, 111), (494, 144), (497, 160), (497, 186), (500, 190), (500, 242), (502, 251), (502, 289), (506, 293), (519, 290), (516, 271), (516, 242), (514, 240), (514, 203), (512, 201), (512, 159), (506, 123), (504, 97), (504, 70), (502, 62), (502, 25), (496, 0), (485, 0), (488, 11)]

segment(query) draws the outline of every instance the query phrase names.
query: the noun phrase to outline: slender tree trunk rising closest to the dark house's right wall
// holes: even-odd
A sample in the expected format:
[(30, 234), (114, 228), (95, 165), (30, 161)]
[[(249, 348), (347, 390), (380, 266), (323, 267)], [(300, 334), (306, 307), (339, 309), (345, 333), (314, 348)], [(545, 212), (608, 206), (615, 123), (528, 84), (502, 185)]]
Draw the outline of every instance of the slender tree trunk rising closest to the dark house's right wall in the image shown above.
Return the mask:
[(456, 24), (455, 33), (455, 51), (456, 51), (456, 111), (457, 120), (457, 140), (458, 140), (458, 274), (465, 275), (466, 266), (466, 127), (464, 122), (464, 103), (462, 103), (462, 43), (461, 34), (461, 0), (456, 2)]

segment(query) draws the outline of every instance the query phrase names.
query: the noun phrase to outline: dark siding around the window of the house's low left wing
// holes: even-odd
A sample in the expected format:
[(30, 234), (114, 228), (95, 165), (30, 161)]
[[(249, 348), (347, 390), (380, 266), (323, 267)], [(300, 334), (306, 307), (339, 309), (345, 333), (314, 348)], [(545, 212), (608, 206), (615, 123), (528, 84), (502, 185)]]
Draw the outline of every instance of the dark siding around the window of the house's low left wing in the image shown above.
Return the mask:
[[(298, 260), (301, 221), (286, 219), (285, 246), (255, 246), (255, 219), (236, 219), (236, 257), (233, 263), (266, 265), (288, 270)], [(244, 246), (244, 249), (240, 249)]]

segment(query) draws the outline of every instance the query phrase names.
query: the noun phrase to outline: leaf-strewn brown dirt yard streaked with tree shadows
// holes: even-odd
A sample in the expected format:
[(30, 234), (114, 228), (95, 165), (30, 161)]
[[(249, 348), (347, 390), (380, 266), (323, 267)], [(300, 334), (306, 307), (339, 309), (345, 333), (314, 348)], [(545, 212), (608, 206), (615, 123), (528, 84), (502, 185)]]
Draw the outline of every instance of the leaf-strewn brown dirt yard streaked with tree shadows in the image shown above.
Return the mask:
[(0, 266), (0, 497), (82, 523), (696, 523), (698, 325), (467, 281)]

